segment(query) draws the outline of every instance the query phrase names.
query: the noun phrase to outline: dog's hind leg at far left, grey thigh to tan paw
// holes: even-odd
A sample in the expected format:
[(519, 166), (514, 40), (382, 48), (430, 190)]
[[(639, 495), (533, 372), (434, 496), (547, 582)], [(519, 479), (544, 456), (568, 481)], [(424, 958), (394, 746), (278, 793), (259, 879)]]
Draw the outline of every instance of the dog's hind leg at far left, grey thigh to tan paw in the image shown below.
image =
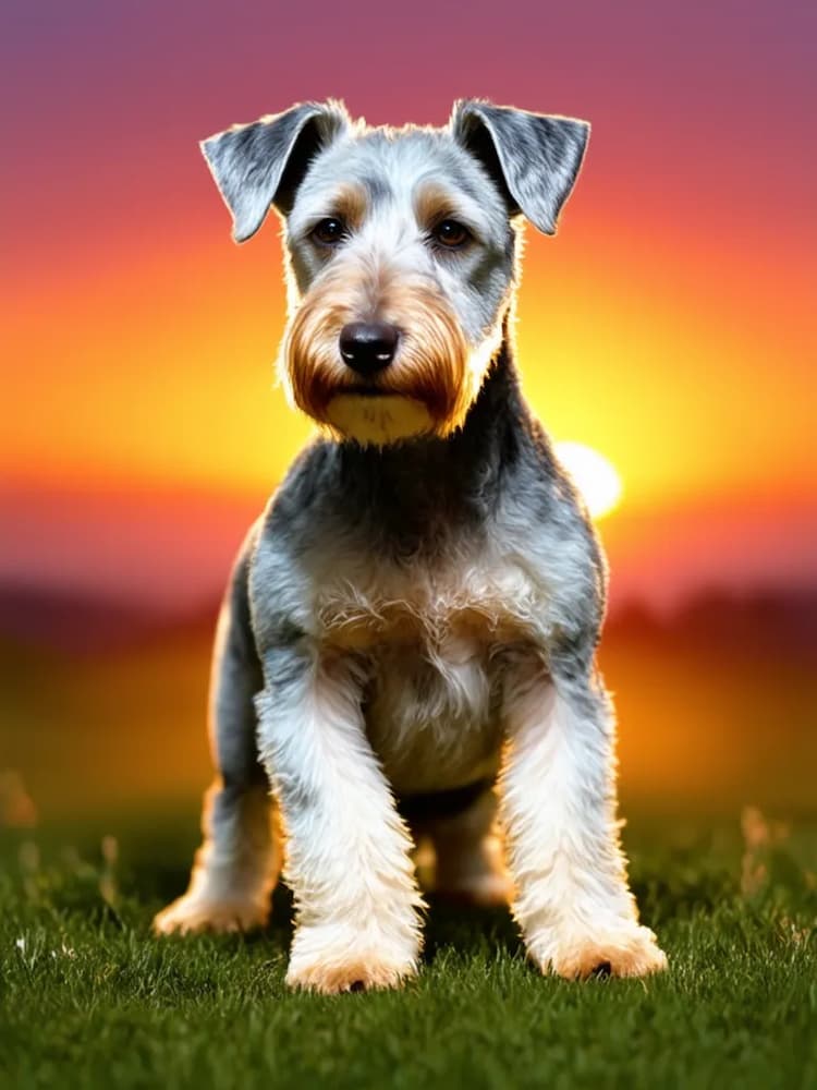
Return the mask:
[(254, 541), (255, 528), (236, 561), (216, 634), (209, 724), (218, 775), (205, 795), (204, 843), (187, 892), (154, 920), (160, 934), (264, 924), (280, 871), (276, 813), (256, 748), (253, 697), (264, 681), (247, 600)]

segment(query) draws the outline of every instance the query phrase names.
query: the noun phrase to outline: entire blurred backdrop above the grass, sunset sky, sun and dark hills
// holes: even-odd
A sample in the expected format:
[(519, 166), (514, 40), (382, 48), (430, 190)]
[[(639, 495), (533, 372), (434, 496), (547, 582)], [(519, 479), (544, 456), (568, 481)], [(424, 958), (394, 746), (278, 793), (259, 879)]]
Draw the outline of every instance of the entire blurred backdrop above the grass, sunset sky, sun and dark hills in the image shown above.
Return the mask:
[(816, 11), (7, 7), (0, 822), (197, 818), (221, 589), (310, 432), (277, 222), (231, 242), (197, 141), (329, 95), (592, 121), (519, 355), (609, 553), (624, 806), (814, 813)]

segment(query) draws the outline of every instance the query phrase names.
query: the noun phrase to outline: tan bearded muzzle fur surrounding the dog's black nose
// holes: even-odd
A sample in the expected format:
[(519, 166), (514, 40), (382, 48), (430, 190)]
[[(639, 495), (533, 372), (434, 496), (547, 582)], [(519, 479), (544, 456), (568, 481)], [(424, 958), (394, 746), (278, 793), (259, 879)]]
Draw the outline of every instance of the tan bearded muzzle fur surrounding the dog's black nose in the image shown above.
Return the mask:
[(314, 287), (294, 313), (282, 353), (291, 400), (318, 424), (361, 444), (386, 445), (460, 426), (481, 376), (455, 316), (431, 284), (397, 278), (380, 289), (378, 316), (401, 329), (392, 364), (361, 392), (343, 362), (340, 331), (359, 320), (364, 289), (350, 270)]

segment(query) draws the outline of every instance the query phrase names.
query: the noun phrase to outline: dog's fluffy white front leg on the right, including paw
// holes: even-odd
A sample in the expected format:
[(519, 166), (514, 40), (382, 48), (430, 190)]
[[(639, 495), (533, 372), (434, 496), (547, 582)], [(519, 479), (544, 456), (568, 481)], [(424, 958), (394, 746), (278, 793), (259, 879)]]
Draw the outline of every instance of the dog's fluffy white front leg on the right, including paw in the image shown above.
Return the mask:
[(551, 677), (535, 657), (507, 675), (508, 749), (500, 813), (515, 885), (514, 916), (545, 972), (663, 969), (638, 924), (615, 820), (614, 729), (595, 678)]

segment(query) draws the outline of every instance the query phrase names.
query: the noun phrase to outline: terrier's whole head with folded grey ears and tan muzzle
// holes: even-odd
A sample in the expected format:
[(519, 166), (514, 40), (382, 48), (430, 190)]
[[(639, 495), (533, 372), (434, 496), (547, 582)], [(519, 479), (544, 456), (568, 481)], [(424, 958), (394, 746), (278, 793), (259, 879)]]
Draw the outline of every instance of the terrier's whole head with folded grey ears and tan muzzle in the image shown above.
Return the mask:
[(202, 147), (249, 239), (284, 226), (291, 400), (358, 443), (462, 424), (502, 338), (522, 218), (546, 234), (589, 125), (483, 100), (442, 129), (369, 128), (303, 102)]

